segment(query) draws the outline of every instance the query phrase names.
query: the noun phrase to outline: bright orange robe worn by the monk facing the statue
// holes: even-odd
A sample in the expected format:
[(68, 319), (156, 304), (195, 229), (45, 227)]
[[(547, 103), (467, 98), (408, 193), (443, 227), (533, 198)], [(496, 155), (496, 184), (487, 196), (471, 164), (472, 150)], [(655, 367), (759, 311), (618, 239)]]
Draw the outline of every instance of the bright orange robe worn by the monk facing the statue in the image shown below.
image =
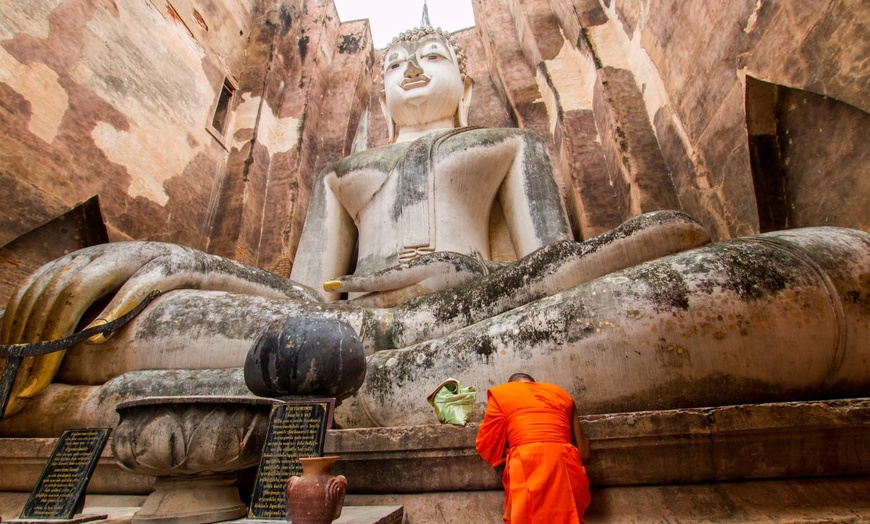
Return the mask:
[(571, 443), (573, 399), (558, 386), (537, 382), (490, 388), (487, 399), (476, 447), (492, 466), (505, 462), (504, 521), (583, 522), (589, 480)]

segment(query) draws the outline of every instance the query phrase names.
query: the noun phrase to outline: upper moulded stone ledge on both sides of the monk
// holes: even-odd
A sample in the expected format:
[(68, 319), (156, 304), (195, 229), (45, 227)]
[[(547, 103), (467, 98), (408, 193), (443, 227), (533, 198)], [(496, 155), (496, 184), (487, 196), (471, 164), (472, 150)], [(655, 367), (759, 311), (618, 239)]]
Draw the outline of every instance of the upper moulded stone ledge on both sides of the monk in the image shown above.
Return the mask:
[[(580, 417), (594, 487), (870, 475), (870, 399)], [(330, 431), (352, 493), (495, 490), (477, 425)]]

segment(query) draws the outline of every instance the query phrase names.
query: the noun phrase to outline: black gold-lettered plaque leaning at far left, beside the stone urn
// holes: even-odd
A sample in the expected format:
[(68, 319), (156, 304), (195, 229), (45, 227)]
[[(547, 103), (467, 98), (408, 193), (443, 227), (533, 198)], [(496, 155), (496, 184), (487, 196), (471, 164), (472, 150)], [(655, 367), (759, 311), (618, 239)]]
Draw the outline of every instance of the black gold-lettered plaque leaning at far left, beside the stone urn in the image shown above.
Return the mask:
[(68, 429), (63, 432), (19, 519), (72, 519), (84, 502), (109, 428)]

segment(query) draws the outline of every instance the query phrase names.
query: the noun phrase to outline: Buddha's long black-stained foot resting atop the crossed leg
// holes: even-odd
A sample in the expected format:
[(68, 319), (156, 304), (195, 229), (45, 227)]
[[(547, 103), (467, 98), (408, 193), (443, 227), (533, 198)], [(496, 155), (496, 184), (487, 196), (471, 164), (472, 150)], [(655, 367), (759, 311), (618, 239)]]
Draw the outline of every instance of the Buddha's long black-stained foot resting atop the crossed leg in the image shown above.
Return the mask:
[[(589, 282), (595, 278), (702, 246), (710, 241), (704, 227), (679, 211), (657, 211), (631, 218), (607, 233), (583, 242), (562, 240), (507, 264), (468, 286), (435, 293), (387, 310), (384, 325), (391, 328), (377, 338), (378, 349), (401, 348), (448, 335)], [(424, 323), (415, 319), (435, 319)]]

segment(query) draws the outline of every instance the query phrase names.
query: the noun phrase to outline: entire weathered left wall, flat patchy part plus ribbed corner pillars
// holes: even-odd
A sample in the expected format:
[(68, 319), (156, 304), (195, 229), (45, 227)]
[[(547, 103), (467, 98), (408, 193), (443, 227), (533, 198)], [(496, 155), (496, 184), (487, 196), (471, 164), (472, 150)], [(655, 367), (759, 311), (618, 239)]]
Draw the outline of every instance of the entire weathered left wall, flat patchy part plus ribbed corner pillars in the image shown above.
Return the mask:
[(98, 195), (113, 241), (286, 266), (371, 86), (368, 25), (327, 0), (16, 2), (0, 36), (0, 247)]

